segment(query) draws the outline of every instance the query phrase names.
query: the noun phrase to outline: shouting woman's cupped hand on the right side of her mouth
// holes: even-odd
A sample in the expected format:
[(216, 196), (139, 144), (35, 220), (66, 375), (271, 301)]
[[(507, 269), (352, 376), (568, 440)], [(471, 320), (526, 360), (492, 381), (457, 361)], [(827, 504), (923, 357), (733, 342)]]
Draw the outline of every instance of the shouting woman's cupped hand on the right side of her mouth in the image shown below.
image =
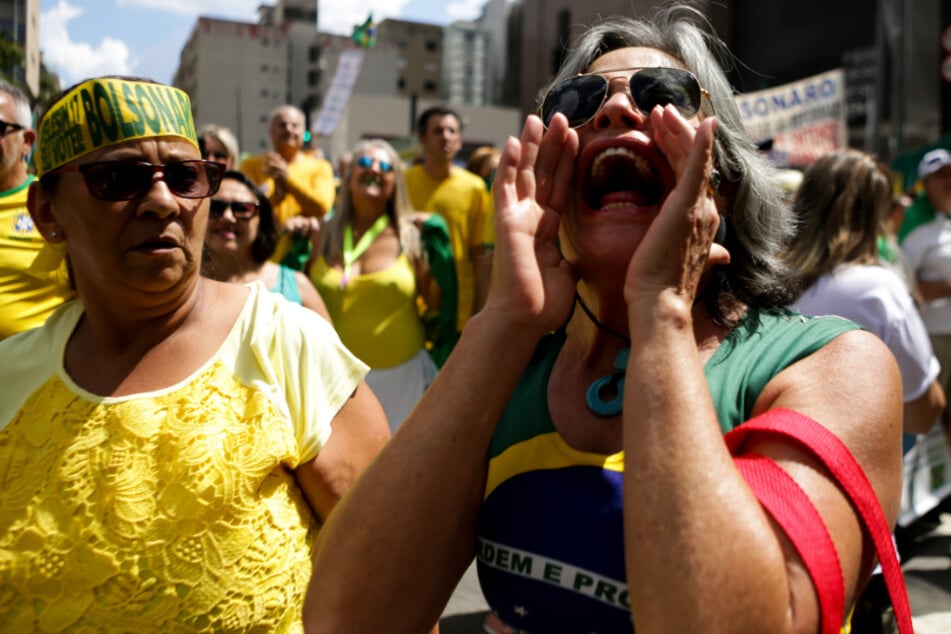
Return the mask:
[(658, 106), (651, 125), (677, 184), (634, 252), (624, 296), (629, 303), (653, 303), (659, 293), (672, 290), (692, 305), (704, 271), (730, 261), (726, 248), (713, 242), (720, 221), (709, 187), (716, 119), (694, 127), (673, 106)]

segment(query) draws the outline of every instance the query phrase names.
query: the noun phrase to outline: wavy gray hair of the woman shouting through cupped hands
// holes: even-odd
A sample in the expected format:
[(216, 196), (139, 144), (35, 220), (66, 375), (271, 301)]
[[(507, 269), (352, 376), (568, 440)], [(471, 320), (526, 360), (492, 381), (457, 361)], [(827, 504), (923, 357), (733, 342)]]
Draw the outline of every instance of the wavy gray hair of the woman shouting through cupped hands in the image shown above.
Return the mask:
[[(714, 162), (730, 189), (735, 189), (728, 220), (729, 266), (714, 270), (702, 293), (711, 316), (729, 325), (726, 312), (736, 302), (752, 308), (778, 309), (795, 300), (798, 284), (782, 257), (793, 233), (789, 208), (776, 185), (775, 170), (747, 134), (733, 89), (720, 64), (732, 54), (693, 7), (673, 5), (650, 17), (615, 17), (589, 28), (575, 43), (549, 85), (586, 72), (610, 51), (642, 46), (680, 60), (706, 88), (700, 116), (716, 115)], [(544, 92), (547, 92), (548, 88)]]

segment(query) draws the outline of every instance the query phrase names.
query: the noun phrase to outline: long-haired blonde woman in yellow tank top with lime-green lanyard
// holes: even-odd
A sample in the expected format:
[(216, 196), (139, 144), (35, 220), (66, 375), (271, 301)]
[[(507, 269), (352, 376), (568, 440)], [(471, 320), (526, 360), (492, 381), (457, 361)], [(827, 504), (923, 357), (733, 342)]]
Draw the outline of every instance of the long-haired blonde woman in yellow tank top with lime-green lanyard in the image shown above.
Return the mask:
[(410, 205), (392, 146), (361, 141), (352, 155), (334, 215), (315, 236), (309, 275), (344, 345), (370, 366), (367, 384), (395, 431), (436, 374), (418, 302), (423, 312), (443, 312), (454, 270), (434, 278), (423, 216)]

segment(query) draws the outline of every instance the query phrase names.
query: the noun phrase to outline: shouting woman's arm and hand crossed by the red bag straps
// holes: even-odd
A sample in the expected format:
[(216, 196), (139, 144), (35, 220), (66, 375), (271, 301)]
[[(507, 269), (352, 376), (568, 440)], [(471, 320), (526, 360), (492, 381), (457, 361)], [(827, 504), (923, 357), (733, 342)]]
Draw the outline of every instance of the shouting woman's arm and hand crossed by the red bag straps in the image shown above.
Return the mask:
[[(697, 345), (715, 328), (694, 306), (697, 287), (705, 267), (723, 258), (712, 243), (717, 209), (706, 192), (715, 121), (694, 131), (670, 107), (655, 109), (651, 118), (678, 181), (635, 252), (625, 284), (634, 342), (624, 402), (625, 558), (638, 632), (814, 632), (812, 582), (733, 464)], [(651, 371), (637, 371), (645, 367)], [(887, 348), (855, 331), (776, 376), (754, 414), (787, 407), (826, 425), (859, 460), (893, 521), (901, 483), (900, 403), (901, 383)], [(844, 495), (788, 444), (754, 441), (750, 451), (772, 458), (815, 502), (850, 601), (871, 556)]]

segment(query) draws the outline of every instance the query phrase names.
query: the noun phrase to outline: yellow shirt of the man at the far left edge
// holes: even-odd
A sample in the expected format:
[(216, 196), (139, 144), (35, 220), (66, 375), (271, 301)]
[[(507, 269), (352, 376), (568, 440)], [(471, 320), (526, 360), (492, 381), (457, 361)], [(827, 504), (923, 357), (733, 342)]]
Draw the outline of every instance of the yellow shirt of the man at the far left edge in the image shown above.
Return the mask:
[(30, 270), (44, 244), (26, 209), (32, 181), (30, 176), (21, 186), (0, 192), (0, 339), (42, 326), (73, 296), (53, 274)]

